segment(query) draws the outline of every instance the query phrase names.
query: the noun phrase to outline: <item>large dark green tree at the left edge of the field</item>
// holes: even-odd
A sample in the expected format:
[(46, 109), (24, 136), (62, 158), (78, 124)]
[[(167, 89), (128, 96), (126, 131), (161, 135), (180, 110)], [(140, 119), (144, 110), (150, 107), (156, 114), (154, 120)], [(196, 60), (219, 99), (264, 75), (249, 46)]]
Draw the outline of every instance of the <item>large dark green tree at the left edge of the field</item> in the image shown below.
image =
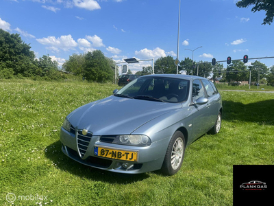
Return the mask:
[(21, 40), (19, 34), (10, 34), (0, 29), (0, 70), (10, 73), (32, 76), (38, 69), (31, 47)]

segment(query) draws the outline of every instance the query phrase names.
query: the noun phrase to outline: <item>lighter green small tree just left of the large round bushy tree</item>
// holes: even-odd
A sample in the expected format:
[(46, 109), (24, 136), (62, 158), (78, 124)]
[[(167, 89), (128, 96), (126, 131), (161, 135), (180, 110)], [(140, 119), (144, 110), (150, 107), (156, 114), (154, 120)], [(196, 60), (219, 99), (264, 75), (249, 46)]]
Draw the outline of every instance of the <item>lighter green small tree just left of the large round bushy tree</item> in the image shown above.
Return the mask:
[(69, 56), (69, 60), (66, 60), (62, 65), (62, 69), (74, 73), (76, 76), (83, 74), (83, 66), (85, 62), (84, 54), (73, 54)]

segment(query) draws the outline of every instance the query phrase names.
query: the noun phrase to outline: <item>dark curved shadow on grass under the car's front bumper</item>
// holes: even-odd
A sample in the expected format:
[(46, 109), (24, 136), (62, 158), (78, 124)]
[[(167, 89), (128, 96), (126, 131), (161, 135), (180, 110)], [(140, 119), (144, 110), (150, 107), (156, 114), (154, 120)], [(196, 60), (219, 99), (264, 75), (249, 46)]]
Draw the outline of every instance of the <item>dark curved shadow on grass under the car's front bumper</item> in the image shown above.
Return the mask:
[(55, 141), (45, 149), (45, 157), (50, 159), (60, 170), (74, 174), (75, 176), (84, 177), (93, 181), (102, 181), (108, 183), (119, 183), (121, 185), (142, 181), (149, 178), (149, 174), (121, 174), (91, 168), (82, 163), (70, 159), (61, 150), (61, 141)]

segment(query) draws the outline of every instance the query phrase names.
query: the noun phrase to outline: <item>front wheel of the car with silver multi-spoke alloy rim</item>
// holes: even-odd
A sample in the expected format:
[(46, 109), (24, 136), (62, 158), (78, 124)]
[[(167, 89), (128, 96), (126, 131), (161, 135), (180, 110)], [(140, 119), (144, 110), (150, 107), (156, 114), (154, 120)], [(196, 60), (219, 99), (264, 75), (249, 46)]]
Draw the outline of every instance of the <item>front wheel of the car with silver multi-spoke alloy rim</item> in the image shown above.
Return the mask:
[(166, 175), (176, 174), (182, 166), (184, 160), (184, 150), (186, 148), (184, 135), (180, 131), (176, 131), (169, 142), (162, 164), (161, 171)]

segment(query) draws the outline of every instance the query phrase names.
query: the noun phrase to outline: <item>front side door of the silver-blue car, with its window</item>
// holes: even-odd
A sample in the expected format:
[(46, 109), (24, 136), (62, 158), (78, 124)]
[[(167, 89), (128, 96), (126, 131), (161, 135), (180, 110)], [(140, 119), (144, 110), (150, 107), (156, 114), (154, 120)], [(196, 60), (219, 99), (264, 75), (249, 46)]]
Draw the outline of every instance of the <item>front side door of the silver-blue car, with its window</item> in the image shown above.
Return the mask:
[[(206, 98), (206, 92), (199, 79), (192, 82), (192, 102), (199, 98)], [(210, 128), (210, 104), (193, 104), (192, 108), (192, 141), (208, 132)]]

